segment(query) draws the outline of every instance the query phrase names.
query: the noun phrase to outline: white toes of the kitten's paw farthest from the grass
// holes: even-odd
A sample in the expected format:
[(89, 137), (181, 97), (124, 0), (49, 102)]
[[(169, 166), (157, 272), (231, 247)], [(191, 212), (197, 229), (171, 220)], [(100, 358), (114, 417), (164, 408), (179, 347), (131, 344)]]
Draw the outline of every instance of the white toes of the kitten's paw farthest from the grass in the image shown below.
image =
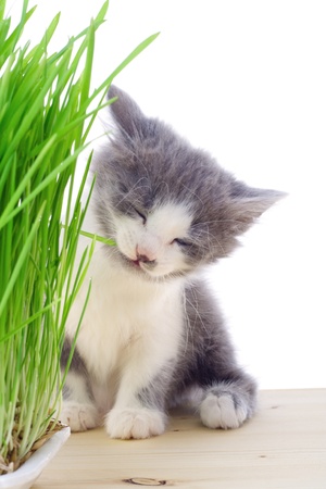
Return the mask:
[(201, 421), (209, 428), (238, 428), (248, 414), (246, 404), (229, 393), (210, 392), (200, 406)]

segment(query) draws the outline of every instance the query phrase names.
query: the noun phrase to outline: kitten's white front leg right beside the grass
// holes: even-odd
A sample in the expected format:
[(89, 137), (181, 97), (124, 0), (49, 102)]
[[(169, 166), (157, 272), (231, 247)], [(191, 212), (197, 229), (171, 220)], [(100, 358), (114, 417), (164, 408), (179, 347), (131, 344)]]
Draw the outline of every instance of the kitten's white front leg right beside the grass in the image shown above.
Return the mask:
[[(62, 353), (63, 367), (70, 348), (70, 343), (65, 341)], [(71, 427), (72, 431), (86, 431), (100, 424), (100, 416), (88, 387), (87, 371), (77, 350), (74, 352), (71, 368), (66, 376), (63, 389), (63, 405), (59, 417), (63, 424)]]

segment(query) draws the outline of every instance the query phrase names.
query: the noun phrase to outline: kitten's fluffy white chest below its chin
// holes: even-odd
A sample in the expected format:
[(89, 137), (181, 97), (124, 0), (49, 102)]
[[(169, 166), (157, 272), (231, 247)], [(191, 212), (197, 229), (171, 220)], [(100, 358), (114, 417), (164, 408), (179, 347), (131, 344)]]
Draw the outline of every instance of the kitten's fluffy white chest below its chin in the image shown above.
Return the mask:
[[(176, 356), (183, 329), (183, 286), (147, 283), (115, 273), (114, 267), (109, 273), (109, 268), (99, 268), (97, 260), (100, 255), (90, 271), (91, 296), (77, 346), (95, 381), (112, 385), (126, 368), (136, 372), (139, 359), (148, 358), (148, 368), (155, 369), (161, 362)], [(70, 317), (70, 336), (84, 294)]]

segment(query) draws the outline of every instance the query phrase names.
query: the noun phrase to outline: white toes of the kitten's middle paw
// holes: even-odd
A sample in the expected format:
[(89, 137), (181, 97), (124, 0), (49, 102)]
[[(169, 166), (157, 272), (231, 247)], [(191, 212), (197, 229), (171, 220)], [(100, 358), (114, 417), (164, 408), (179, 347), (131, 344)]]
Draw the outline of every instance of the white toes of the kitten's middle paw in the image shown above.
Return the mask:
[(165, 429), (165, 415), (150, 409), (113, 409), (106, 415), (105, 428), (111, 438), (150, 438)]

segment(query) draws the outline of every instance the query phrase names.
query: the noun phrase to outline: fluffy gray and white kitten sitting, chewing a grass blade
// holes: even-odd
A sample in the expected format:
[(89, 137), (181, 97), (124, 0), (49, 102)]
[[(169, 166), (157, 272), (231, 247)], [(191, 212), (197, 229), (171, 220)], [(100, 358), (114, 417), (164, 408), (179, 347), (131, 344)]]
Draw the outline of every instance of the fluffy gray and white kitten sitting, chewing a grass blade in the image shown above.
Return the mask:
[[(92, 165), (85, 227), (116, 247), (98, 243), (91, 260), (61, 419), (76, 431), (104, 423), (112, 438), (147, 438), (196, 390), (205, 426), (237, 428), (254, 412), (256, 385), (201, 272), (281, 193), (238, 181), (116, 87), (109, 97), (117, 97), (115, 134)], [(87, 289), (88, 280), (67, 321), (63, 364)]]

